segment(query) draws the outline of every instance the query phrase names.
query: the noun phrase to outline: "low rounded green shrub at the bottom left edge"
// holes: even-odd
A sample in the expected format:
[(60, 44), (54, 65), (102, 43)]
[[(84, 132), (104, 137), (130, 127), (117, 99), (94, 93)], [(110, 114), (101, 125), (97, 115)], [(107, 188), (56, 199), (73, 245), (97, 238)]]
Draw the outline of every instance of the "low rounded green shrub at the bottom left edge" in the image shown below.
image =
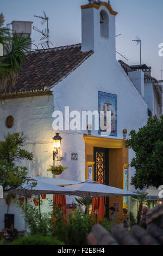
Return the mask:
[(60, 242), (56, 237), (35, 234), (19, 238), (8, 245), (64, 245), (64, 243)]

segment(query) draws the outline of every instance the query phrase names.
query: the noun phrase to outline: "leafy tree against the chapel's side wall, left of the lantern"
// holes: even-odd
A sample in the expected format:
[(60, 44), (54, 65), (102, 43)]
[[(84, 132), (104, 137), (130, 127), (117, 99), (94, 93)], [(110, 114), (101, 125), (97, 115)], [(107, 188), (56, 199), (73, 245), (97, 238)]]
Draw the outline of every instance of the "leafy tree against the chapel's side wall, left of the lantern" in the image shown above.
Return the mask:
[(23, 133), (14, 133), (0, 141), (0, 185), (4, 191), (17, 188), (24, 183), (27, 175), (27, 167), (16, 165), (21, 160), (32, 160), (33, 154), (22, 149), (26, 136)]

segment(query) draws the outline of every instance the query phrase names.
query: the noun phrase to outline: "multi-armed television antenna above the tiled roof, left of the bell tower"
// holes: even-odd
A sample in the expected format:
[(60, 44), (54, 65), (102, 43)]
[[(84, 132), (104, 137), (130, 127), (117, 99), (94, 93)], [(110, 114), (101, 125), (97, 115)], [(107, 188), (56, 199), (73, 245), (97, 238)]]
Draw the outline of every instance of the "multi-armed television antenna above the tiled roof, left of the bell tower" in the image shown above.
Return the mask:
[[(45, 11), (43, 11), (43, 14), (44, 14), (43, 17), (42, 17), (42, 16), (37, 16), (37, 15), (34, 15), (34, 17), (37, 17), (37, 18), (39, 18), (39, 19), (42, 19), (41, 25), (43, 25), (45, 22), (47, 22), (47, 28), (42, 29), (42, 31), (41, 31), (39, 28), (36, 28), (36, 27), (34, 26), (33, 29), (34, 29), (36, 32), (39, 32), (40, 34), (42, 34), (42, 37), (41, 37), (40, 41), (46, 40), (46, 41), (43, 41), (43, 42), (40, 43), (41, 46), (42, 46), (42, 48), (43, 48), (43, 49), (45, 49), (45, 48), (48, 48), (48, 49), (49, 49), (49, 25), (48, 25), (48, 20), (49, 20), (49, 18), (46, 16)], [(52, 44), (51, 41), (50, 41), (50, 43)], [(43, 45), (44, 45), (45, 47), (43, 47)]]

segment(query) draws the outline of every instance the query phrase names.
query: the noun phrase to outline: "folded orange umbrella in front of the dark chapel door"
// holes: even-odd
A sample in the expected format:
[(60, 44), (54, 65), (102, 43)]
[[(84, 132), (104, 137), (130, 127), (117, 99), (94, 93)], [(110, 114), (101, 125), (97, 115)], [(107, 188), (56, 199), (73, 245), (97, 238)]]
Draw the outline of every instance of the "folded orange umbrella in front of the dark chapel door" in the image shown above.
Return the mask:
[[(102, 184), (101, 178), (98, 179), (98, 183)], [(96, 218), (102, 221), (105, 217), (105, 201), (103, 198), (93, 198), (92, 201), (92, 213), (95, 213)]]

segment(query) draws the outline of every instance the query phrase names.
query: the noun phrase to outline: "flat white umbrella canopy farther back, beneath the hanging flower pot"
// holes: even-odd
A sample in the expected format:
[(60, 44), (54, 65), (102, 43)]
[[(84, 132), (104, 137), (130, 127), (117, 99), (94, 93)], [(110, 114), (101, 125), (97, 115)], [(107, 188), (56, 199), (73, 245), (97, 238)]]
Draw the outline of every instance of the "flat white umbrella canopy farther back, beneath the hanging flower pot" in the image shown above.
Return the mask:
[(48, 178), (48, 177), (41, 177), (41, 176), (36, 176), (36, 177), (27, 177), (29, 179), (33, 179), (36, 181), (41, 181), (45, 182), (48, 184), (56, 185), (56, 186), (67, 186), (67, 185), (72, 185), (72, 184), (77, 184), (78, 181), (69, 181), (69, 180), (63, 180), (61, 178)]

